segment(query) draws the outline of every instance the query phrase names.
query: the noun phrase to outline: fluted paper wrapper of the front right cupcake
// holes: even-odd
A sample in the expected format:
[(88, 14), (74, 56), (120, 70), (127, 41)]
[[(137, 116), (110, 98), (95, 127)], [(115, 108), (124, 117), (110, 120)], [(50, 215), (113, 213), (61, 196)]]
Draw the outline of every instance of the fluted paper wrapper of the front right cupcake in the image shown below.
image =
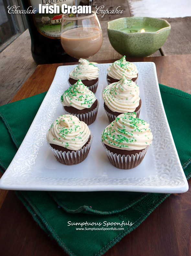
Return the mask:
[(117, 155), (116, 153), (113, 154), (111, 151), (109, 151), (106, 148), (106, 146), (104, 145), (103, 142), (102, 142), (102, 144), (104, 146), (104, 149), (106, 151), (106, 154), (107, 154), (107, 157), (108, 157), (110, 163), (119, 169), (132, 169), (132, 168), (135, 168), (136, 166), (138, 166), (142, 162), (142, 160), (149, 148), (149, 146), (147, 146), (145, 149), (140, 151), (139, 154), (136, 153), (135, 155), (131, 155), (131, 156), (127, 155), (126, 156), (126, 155)]

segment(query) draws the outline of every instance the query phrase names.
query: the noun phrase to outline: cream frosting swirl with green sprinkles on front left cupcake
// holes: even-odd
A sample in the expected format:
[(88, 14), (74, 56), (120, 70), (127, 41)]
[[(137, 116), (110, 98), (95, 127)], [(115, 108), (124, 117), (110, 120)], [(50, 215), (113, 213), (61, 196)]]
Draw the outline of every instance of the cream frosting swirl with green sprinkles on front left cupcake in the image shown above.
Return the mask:
[(74, 115), (61, 115), (47, 132), (49, 143), (71, 150), (81, 149), (88, 141), (90, 129)]

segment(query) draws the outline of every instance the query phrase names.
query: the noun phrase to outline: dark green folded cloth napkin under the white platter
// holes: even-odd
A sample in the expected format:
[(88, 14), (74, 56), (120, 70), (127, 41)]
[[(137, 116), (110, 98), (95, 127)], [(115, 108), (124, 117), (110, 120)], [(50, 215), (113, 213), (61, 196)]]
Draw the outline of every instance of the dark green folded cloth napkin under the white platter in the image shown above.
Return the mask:
[[(187, 179), (191, 176), (191, 95), (160, 85), (174, 142)], [(0, 168), (4, 172), (46, 93), (0, 107)], [(24, 120), (24, 122), (23, 122)], [(6, 153), (5, 153), (6, 152)], [(103, 255), (140, 225), (170, 194), (134, 192), (17, 191), (33, 219), (69, 254)], [(77, 223), (78, 225), (71, 225)], [(83, 223), (102, 223), (88, 225)], [(116, 225), (108, 223), (127, 223)], [(81, 223), (81, 224), (79, 224)], [(108, 225), (108, 226), (107, 226)], [(99, 230), (76, 230), (95, 228)], [(101, 230), (101, 228), (113, 228)], [(118, 228), (124, 228), (119, 230)], [(76, 241), (74, 243), (73, 241)]]

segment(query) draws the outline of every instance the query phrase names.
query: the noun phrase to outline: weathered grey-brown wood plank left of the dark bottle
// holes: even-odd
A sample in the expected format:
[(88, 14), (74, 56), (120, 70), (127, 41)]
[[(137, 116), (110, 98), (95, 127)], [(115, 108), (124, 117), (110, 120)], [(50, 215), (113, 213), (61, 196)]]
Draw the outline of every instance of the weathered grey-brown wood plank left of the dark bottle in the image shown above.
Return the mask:
[(0, 105), (11, 101), (37, 67), (30, 47), (30, 35), (26, 30), (0, 53)]

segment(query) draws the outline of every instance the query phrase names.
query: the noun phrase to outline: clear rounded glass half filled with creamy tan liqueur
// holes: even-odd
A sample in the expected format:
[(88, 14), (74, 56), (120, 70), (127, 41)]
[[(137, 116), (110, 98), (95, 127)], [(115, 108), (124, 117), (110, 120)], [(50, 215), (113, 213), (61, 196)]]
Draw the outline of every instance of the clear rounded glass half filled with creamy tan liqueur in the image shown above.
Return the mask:
[(102, 30), (96, 12), (62, 15), (61, 43), (67, 54), (88, 59), (102, 46)]

